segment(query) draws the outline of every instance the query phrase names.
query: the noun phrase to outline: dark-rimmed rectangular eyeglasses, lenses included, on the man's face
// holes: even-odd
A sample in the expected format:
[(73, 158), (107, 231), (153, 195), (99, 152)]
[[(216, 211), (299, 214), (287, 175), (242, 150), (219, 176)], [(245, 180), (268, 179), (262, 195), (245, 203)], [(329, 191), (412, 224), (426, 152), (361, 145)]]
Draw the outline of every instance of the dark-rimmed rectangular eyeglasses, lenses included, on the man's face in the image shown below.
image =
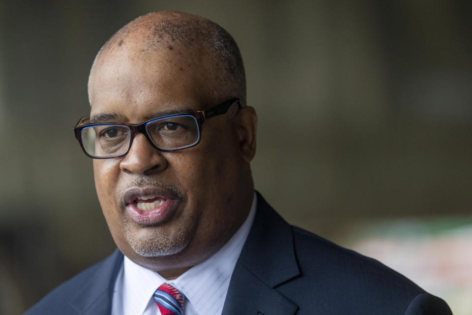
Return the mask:
[(225, 114), (239, 99), (234, 98), (206, 111), (157, 117), (141, 124), (97, 123), (87, 124), (83, 117), (74, 127), (75, 137), (90, 158), (118, 158), (128, 153), (136, 133), (143, 133), (159, 151), (191, 148), (200, 143), (202, 124), (211, 117)]

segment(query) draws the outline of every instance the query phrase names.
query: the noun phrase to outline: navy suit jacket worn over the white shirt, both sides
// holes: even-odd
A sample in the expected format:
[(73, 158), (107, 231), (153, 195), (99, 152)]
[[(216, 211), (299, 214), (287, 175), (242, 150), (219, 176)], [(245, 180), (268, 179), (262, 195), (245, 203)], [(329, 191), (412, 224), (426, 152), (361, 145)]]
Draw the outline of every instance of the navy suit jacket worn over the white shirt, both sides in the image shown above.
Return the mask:
[[(105, 315), (123, 255), (59, 285), (27, 315)], [(289, 225), (258, 194), (223, 315), (451, 315), (447, 304), (377, 260)]]

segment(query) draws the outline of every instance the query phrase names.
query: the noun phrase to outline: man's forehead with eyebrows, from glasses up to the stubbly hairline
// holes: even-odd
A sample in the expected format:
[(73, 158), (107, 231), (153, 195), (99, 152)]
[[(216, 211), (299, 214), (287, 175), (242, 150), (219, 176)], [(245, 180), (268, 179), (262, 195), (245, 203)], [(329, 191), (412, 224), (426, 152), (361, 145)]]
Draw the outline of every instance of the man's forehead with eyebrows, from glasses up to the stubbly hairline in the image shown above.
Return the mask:
[[(212, 67), (180, 54), (181, 47), (141, 54), (102, 55), (89, 79), (93, 122), (139, 122), (206, 109), (212, 103)], [(130, 115), (132, 113), (133, 115)], [(136, 119), (131, 118), (134, 116)]]

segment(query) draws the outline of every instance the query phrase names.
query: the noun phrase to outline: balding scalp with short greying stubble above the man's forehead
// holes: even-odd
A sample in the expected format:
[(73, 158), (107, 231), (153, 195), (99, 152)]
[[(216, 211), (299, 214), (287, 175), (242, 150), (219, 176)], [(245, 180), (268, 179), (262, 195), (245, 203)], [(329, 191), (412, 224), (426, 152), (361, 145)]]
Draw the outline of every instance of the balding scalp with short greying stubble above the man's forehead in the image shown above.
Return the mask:
[(237, 44), (222, 27), (205, 18), (183, 12), (141, 16), (118, 30), (103, 45), (90, 75), (102, 59), (121, 50), (138, 51), (143, 55), (175, 52), (176, 57), (184, 56), (188, 60), (180, 63), (178, 70), (199, 68), (203, 73), (207, 93), (221, 99), (237, 97), (243, 105), (246, 103), (244, 65)]

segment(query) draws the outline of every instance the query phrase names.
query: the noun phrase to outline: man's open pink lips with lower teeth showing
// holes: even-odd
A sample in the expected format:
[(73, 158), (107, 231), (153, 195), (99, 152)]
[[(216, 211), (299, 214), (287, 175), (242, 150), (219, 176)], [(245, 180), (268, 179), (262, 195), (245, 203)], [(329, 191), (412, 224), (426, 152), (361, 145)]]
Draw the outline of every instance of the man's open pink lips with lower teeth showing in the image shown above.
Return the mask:
[(131, 220), (150, 226), (172, 218), (180, 197), (172, 190), (153, 187), (128, 189), (122, 199)]

